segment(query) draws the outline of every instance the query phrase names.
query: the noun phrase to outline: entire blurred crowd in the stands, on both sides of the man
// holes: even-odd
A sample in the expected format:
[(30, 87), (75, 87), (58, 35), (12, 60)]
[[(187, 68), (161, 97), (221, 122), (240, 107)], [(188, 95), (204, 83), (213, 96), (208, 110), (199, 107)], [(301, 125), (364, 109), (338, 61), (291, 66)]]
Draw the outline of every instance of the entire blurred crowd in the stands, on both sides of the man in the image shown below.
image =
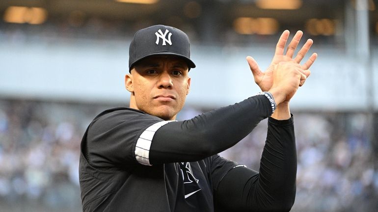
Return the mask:
[[(34, 204), (49, 208), (46, 211), (81, 211), (81, 136), (92, 118), (109, 107), (0, 99), (1, 208), (30, 211), (22, 206)], [(178, 118), (192, 118), (202, 111), (186, 107)], [(294, 114), (298, 170), (292, 211), (377, 212), (377, 152), (368, 136), (369, 115)], [(264, 120), (221, 155), (258, 170), (266, 130)]]

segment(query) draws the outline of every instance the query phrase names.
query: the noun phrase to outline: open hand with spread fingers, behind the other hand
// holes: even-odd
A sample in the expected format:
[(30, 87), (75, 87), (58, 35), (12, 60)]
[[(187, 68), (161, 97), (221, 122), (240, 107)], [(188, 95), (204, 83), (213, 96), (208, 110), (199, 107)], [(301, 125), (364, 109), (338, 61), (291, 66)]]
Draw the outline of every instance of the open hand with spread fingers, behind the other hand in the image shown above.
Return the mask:
[[(289, 62), (298, 64), (300, 67), (301, 72), (308, 77), (310, 75), (309, 68), (311, 65), (315, 62), (317, 58), (317, 53), (313, 53), (310, 58), (303, 64), (300, 65), (300, 62), (304, 58), (304, 56), (309, 51), (310, 47), (313, 44), (313, 41), (311, 39), (308, 39), (306, 43), (303, 45), (303, 47), (298, 51), (295, 58), (293, 58), (294, 52), (299, 44), (299, 41), (303, 35), (302, 31), (297, 31), (297, 33), (294, 35), (293, 40), (290, 42), (289, 46), (287, 47), (286, 54), (284, 54), (286, 42), (289, 38), (289, 30), (285, 30), (281, 37), (278, 40), (277, 46), (275, 48), (274, 57), (270, 63), (270, 66), (265, 72), (262, 72), (256, 62), (255, 59), (253, 59), (251, 56), (247, 56), (247, 62), (249, 64), (249, 67), (252, 71), (253, 78), (256, 82), (256, 84), (260, 87), (262, 91), (269, 91), (272, 84), (273, 84), (273, 71), (277, 64), (280, 62)], [(305, 78), (301, 78), (299, 86), (302, 86), (305, 82)]]

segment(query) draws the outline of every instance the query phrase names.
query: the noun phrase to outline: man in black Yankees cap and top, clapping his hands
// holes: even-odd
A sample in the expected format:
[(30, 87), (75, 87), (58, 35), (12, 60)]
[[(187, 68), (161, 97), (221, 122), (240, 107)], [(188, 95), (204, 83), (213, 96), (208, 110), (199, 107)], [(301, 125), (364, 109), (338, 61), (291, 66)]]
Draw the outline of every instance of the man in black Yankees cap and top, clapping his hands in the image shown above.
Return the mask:
[[(300, 65), (308, 40), (292, 59), (300, 31), (278, 41), (270, 68), (247, 57), (263, 93), (185, 121), (174, 121), (189, 93), (189, 38), (154, 25), (135, 33), (126, 89), (130, 107), (98, 115), (81, 141), (80, 185), (85, 212), (289, 211), (296, 192), (296, 148), (289, 101), (317, 55)], [(211, 80), (211, 79), (209, 79)], [(217, 153), (269, 118), (260, 173)]]

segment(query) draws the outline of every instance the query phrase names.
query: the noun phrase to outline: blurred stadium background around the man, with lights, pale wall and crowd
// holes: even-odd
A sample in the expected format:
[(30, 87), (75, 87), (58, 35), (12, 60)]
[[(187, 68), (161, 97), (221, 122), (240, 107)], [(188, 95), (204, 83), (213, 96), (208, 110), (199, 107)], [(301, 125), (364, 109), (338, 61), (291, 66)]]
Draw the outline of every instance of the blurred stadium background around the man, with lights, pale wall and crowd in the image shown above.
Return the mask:
[[(283, 30), (312, 38), (319, 57), (291, 102), (292, 212), (378, 211), (377, 0), (0, 0), (0, 17), (0, 212), (81, 211), (81, 137), (128, 106), (129, 44), (153, 24), (192, 43), (178, 119), (257, 94), (245, 57), (265, 70)], [(266, 128), (221, 155), (258, 170)]]

